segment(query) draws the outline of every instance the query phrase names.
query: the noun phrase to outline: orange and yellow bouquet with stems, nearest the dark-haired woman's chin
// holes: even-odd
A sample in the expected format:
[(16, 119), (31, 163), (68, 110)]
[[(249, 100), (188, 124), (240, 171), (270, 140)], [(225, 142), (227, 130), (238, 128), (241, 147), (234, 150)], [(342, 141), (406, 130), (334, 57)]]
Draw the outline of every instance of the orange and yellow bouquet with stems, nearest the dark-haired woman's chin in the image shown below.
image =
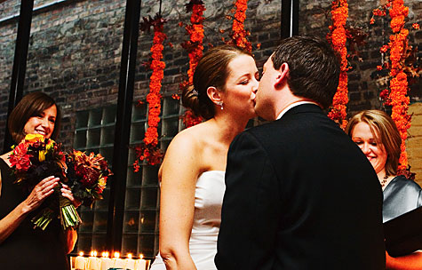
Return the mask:
[[(28, 134), (20, 144), (12, 147), (10, 162), (12, 171), (20, 184), (30, 192), (42, 179), (54, 175), (61, 182), (68, 181), (66, 177), (66, 156), (60, 150), (60, 144), (52, 139), (45, 139), (43, 135)], [(72, 202), (63, 197), (61, 185), (54, 188), (54, 193), (47, 198), (47, 207), (42, 209), (31, 221), (35, 227), (45, 229), (52, 218), (59, 216), (63, 229), (76, 228), (82, 221)], [(43, 204), (44, 205), (44, 204)]]

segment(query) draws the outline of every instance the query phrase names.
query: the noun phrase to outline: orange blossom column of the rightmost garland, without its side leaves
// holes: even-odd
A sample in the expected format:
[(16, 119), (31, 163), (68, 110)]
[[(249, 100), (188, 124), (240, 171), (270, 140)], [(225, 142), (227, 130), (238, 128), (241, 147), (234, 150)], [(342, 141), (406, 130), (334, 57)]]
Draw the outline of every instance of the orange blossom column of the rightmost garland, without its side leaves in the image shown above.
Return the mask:
[(406, 48), (408, 47), (409, 30), (404, 27), (404, 19), (409, 14), (409, 7), (404, 6), (403, 0), (392, 1), (390, 9), (390, 27), (393, 29), (393, 35), (390, 36), (390, 94), (388, 96), (389, 105), (392, 106), (392, 114), (397, 128), (402, 137), (402, 153), (399, 160), (399, 171), (408, 167), (408, 157), (406, 153), (405, 140), (407, 139), (407, 130), (410, 128), (410, 115), (408, 115), (410, 99), (407, 96), (408, 80), (404, 73), (404, 59)]

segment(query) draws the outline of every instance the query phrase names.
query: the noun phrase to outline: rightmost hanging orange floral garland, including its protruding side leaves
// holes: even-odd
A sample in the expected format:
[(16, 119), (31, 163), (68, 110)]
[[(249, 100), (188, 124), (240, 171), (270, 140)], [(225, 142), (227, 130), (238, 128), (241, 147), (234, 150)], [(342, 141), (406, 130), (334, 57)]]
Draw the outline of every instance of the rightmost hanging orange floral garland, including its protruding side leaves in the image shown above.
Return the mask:
[[(383, 45), (380, 52), (384, 55), (388, 50), (389, 56), (378, 70), (387, 68), (390, 70), (390, 85), (389, 89), (380, 92), (380, 98), (385, 100), (387, 106), (392, 107), (391, 117), (397, 125), (400, 135), (402, 137), (401, 155), (399, 159), (399, 174), (405, 174), (408, 178), (414, 178), (414, 174), (410, 173), (408, 167), (408, 156), (406, 153), (405, 140), (408, 137), (408, 129), (410, 128), (411, 115), (408, 114), (410, 98), (407, 95), (409, 90), (408, 77), (418, 76), (420, 67), (415, 67), (410, 57), (416, 51), (409, 45), (408, 36), (409, 30), (404, 28), (404, 22), (409, 14), (409, 7), (404, 6), (403, 0), (388, 0), (386, 4), (380, 8), (375, 9), (373, 16), (385, 16), (386, 11), (389, 11), (391, 22), (390, 27), (393, 34), (390, 36), (390, 42)], [(370, 24), (375, 23), (375, 19), (370, 19)], [(413, 28), (418, 29), (418, 24), (413, 24)], [(408, 62), (408, 64), (406, 64)]]

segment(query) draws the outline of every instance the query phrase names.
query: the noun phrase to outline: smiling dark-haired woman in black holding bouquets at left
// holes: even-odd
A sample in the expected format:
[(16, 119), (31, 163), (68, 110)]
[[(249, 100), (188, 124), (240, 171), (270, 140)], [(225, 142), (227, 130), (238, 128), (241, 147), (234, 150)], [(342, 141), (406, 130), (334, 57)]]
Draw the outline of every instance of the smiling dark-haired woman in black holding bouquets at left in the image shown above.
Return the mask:
[[(60, 108), (43, 92), (32, 92), (20, 100), (9, 117), (9, 131), (16, 143), (27, 134), (40, 134), (56, 139), (60, 129)], [(68, 269), (67, 254), (73, 250), (77, 234), (73, 229), (63, 231), (57, 218), (45, 230), (34, 228), (31, 218), (54, 192), (60, 179), (55, 176), (41, 180), (25, 193), (14, 184), (10, 156), (0, 159), (0, 264), (4, 269)], [(75, 199), (63, 185), (61, 195), (71, 202)]]

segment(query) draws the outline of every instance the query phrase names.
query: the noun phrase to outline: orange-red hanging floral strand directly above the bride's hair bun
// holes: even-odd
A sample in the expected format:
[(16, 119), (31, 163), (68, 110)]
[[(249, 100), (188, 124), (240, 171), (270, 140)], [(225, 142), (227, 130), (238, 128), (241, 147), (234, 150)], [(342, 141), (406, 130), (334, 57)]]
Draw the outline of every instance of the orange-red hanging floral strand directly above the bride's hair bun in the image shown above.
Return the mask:
[[(189, 55), (189, 69), (187, 70), (187, 81), (180, 83), (180, 89), (185, 89), (188, 85), (194, 83), (194, 72), (198, 61), (203, 57), (203, 12), (205, 7), (202, 0), (191, 0), (186, 4), (187, 12), (192, 12), (190, 16), (190, 25), (186, 27), (189, 40), (182, 45)], [(203, 122), (202, 117), (196, 116), (194, 112), (187, 109), (182, 116), (185, 127), (189, 128), (197, 123)]]

